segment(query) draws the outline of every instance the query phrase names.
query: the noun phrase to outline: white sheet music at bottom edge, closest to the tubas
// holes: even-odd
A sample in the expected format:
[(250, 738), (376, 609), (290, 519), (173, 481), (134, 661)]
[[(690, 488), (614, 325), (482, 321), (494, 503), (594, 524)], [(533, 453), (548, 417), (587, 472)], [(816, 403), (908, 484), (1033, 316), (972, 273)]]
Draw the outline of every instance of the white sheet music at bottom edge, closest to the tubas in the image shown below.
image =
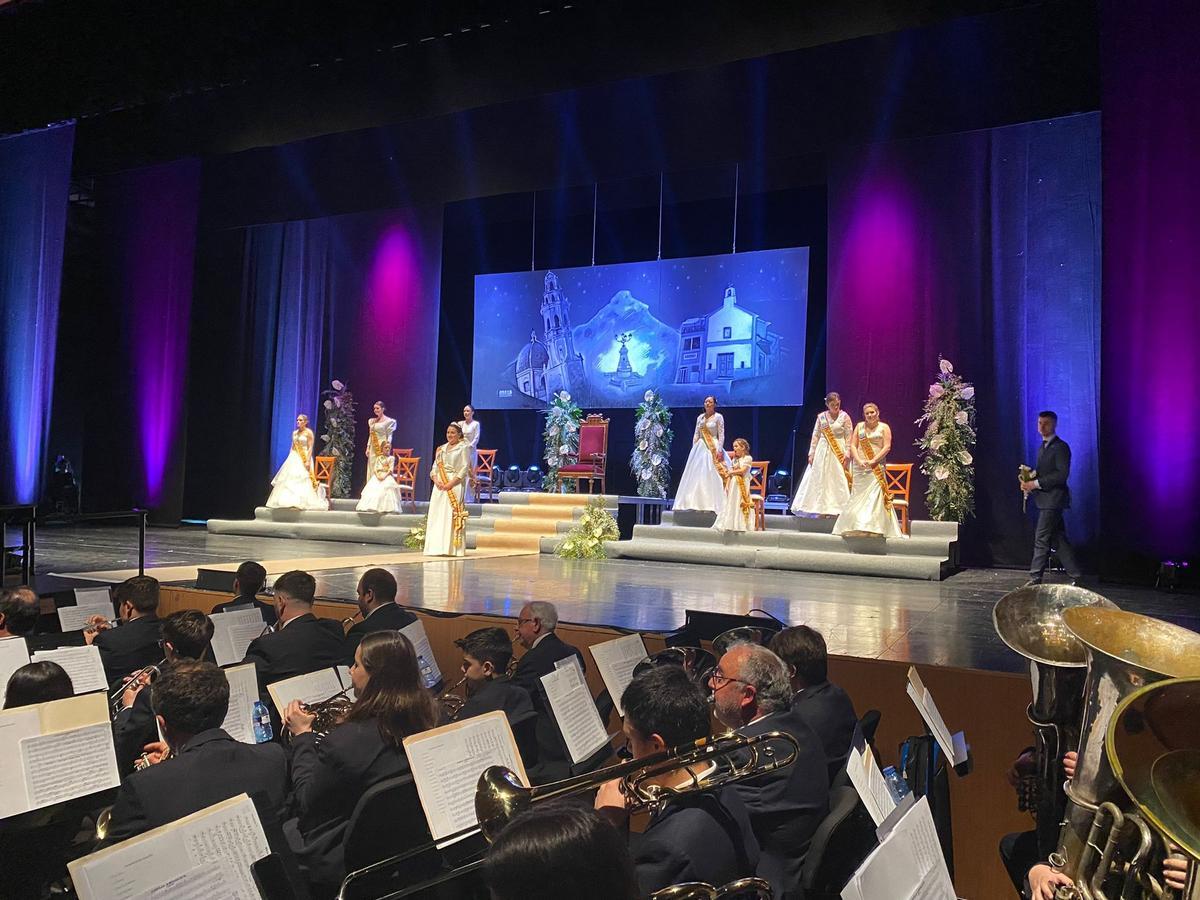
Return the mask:
[(955, 900), (929, 798), (922, 797), (871, 851), (842, 900)]

